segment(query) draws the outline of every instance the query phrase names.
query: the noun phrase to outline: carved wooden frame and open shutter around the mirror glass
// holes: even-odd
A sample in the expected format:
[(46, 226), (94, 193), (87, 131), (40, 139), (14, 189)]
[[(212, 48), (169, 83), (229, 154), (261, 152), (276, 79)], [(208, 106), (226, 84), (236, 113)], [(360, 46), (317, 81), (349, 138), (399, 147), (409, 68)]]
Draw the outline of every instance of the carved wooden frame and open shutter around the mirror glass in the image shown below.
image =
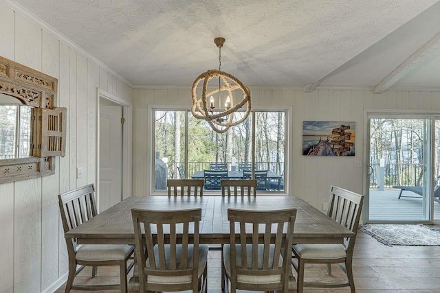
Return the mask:
[(0, 183), (55, 173), (65, 155), (66, 108), (55, 108), (58, 80), (0, 56), (0, 93), (32, 106), (30, 157), (0, 160)]

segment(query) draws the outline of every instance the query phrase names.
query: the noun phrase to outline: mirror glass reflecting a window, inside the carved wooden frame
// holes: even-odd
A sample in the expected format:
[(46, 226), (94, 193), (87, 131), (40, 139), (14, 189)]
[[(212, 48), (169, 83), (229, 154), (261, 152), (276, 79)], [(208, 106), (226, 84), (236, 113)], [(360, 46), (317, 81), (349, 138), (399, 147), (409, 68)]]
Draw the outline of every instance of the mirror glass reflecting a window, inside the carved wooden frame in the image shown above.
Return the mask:
[(30, 156), (31, 108), (0, 93), (0, 160)]

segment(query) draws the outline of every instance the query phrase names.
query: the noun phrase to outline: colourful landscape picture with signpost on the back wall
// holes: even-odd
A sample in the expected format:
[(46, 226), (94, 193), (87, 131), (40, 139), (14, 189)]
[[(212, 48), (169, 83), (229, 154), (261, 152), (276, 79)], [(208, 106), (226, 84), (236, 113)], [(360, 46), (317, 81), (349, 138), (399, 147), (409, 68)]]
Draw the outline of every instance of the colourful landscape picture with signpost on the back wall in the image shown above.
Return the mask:
[(303, 155), (354, 156), (354, 121), (303, 121)]

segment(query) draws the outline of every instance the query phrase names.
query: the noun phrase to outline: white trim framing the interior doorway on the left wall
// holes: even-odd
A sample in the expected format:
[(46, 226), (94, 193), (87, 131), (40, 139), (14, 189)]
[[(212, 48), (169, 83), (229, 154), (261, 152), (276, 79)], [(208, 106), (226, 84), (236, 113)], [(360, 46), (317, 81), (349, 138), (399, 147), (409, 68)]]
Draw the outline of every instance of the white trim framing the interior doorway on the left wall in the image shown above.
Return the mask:
[(98, 126), (97, 134), (96, 134), (96, 194), (97, 200), (99, 200), (99, 179), (100, 179), (100, 170), (99, 170), (99, 158), (100, 158), (100, 98), (108, 99), (111, 102), (114, 102), (120, 106), (122, 106), (122, 115), (125, 118), (125, 124), (122, 130), (122, 200), (131, 196), (131, 138), (132, 138), (132, 115), (133, 115), (133, 106), (130, 102), (127, 102), (120, 97), (116, 97), (115, 95), (111, 95), (111, 93), (107, 93), (106, 91), (102, 91), (99, 88), (96, 88), (96, 125)]

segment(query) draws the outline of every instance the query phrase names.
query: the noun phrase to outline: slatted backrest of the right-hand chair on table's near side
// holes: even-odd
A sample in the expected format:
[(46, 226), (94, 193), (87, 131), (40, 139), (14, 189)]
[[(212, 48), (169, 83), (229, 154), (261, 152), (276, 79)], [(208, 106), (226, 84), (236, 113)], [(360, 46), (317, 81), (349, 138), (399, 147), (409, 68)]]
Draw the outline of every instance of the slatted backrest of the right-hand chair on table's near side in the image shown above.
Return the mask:
[[(228, 209), (231, 233), (231, 278), (234, 278), (231, 281), (237, 283), (236, 274), (254, 276), (281, 274), (281, 281), (276, 285), (282, 288), (284, 284), (287, 284), (292, 255), (289, 249), (283, 248), (292, 246), (295, 219), (296, 209), (276, 211)], [(240, 231), (236, 231), (237, 227)], [(236, 243), (237, 239), (239, 239), (239, 244)], [(236, 263), (236, 245), (240, 247), (241, 265)], [(247, 255), (249, 249), (252, 249), (250, 257)], [(281, 256), (283, 257), (282, 265), (280, 264)]]

